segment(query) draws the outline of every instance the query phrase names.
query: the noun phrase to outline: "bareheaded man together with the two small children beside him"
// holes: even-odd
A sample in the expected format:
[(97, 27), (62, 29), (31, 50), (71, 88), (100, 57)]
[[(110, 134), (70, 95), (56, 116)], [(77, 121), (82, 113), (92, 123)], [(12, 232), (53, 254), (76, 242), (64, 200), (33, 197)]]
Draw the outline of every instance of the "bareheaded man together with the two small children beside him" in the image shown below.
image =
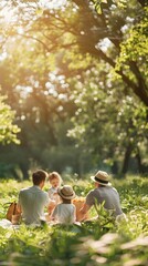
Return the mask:
[[(46, 180), (51, 184), (49, 192), (43, 191)], [(61, 186), (62, 178), (57, 172), (47, 174), (38, 170), (32, 174), (32, 182), (31, 187), (20, 191), (18, 201), (18, 211), (27, 225), (38, 225), (46, 219), (64, 224), (75, 223), (75, 206), (72, 204), (75, 193), (70, 185)]]

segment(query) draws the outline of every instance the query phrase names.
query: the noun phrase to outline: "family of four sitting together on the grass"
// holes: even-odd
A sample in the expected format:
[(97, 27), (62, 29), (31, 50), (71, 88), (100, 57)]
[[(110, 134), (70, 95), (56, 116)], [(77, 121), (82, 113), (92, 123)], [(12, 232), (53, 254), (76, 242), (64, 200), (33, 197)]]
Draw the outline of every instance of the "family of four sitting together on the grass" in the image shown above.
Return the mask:
[[(98, 171), (91, 178), (94, 181), (95, 188), (86, 195), (83, 206), (78, 209), (73, 187), (62, 186), (59, 173), (47, 174), (43, 170), (38, 170), (32, 174), (33, 185), (19, 193), (18, 212), (21, 214), (21, 219), (27, 225), (40, 225), (42, 222), (49, 224), (80, 223), (87, 218), (88, 209), (96, 202), (104, 203), (106, 209), (114, 209), (115, 218), (123, 218), (125, 215), (120, 207), (119, 195), (109, 183), (108, 174)], [(51, 185), (49, 192), (43, 191), (46, 180)], [(47, 213), (44, 213), (45, 207)]]

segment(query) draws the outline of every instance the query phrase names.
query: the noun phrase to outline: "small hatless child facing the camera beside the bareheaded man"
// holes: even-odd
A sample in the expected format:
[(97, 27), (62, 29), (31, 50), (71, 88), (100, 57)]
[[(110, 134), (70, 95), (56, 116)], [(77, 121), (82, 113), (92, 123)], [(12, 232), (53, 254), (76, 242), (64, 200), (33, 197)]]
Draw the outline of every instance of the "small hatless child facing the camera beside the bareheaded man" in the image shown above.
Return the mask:
[(52, 201), (55, 201), (55, 204), (60, 203), (61, 198), (57, 194), (57, 188), (62, 184), (62, 177), (57, 172), (52, 172), (49, 174), (47, 181), (50, 182), (51, 187), (49, 188), (49, 197)]

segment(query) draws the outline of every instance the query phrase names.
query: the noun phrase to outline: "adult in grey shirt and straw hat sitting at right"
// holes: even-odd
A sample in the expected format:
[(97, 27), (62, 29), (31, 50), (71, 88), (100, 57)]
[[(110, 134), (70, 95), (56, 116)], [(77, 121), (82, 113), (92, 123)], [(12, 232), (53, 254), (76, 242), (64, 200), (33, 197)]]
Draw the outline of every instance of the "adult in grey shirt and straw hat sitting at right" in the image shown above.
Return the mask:
[[(106, 209), (113, 209), (114, 216), (123, 216), (123, 211), (119, 201), (119, 194), (109, 182), (109, 175), (104, 171), (98, 171), (95, 175), (91, 176), (94, 181), (95, 188), (89, 191), (84, 206), (81, 209), (83, 218), (88, 209), (96, 203), (103, 204)], [(120, 217), (121, 217), (120, 216)]]

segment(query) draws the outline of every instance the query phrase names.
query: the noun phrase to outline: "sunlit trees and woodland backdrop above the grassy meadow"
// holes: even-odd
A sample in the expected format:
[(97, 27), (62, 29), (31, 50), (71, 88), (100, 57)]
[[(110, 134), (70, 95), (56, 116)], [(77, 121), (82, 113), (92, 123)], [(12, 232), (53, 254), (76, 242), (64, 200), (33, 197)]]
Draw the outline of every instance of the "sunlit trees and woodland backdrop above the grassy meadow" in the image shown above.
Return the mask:
[(1, 1), (0, 13), (0, 176), (148, 173), (147, 1)]

